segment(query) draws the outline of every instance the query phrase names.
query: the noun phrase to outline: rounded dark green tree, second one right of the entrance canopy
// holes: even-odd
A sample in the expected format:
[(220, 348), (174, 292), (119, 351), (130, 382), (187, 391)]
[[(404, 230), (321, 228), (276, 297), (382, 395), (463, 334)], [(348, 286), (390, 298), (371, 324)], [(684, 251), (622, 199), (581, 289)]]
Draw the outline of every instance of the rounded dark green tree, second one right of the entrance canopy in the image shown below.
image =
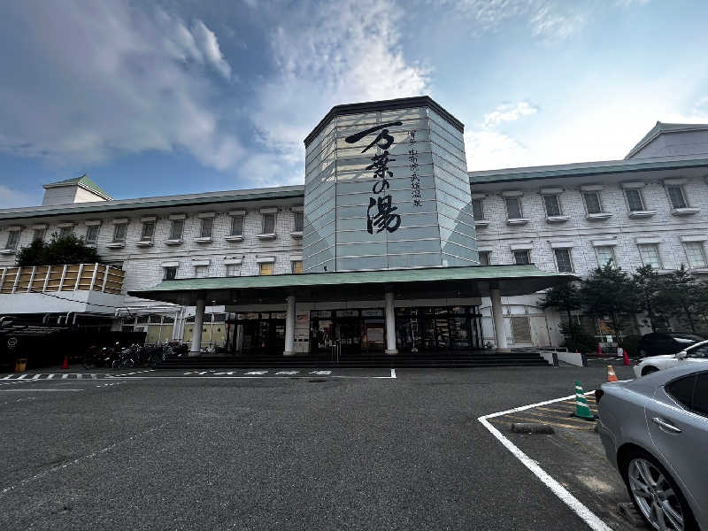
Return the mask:
[(581, 284), (581, 304), (600, 317), (608, 315), (612, 328), (620, 337), (620, 316), (633, 315), (637, 311), (637, 294), (630, 276), (622, 269), (612, 266), (612, 260), (597, 267)]

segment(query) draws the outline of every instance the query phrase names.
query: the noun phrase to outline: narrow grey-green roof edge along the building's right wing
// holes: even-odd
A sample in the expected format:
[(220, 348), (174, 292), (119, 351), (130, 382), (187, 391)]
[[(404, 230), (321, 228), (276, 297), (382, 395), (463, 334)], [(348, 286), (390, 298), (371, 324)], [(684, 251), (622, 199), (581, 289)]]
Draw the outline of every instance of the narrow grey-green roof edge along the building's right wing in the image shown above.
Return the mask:
[(606, 173), (634, 173), (701, 166), (708, 166), (708, 158), (696, 158), (696, 155), (682, 155), (677, 157), (630, 158), (573, 164), (527, 166), (522, 168), (468, 172), (468, 174), (470, 183), (474, 185), (493, 182), (558, 179), (558, 177), (583, 177)]

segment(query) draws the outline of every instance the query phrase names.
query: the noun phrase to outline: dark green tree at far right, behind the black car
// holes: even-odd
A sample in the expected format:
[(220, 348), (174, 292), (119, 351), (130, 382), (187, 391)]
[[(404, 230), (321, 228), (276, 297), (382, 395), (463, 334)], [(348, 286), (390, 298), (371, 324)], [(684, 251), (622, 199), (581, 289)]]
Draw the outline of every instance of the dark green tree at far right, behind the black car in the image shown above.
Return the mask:
[(658, 294), (658, 304), (668, 315), (681, 315), (689, 323), (691, 332), (696, 334), (696, 317), (706, 309), (708, 296), (703, 282), (681, 264), (681, 267), (667, 275), (666, 285)]

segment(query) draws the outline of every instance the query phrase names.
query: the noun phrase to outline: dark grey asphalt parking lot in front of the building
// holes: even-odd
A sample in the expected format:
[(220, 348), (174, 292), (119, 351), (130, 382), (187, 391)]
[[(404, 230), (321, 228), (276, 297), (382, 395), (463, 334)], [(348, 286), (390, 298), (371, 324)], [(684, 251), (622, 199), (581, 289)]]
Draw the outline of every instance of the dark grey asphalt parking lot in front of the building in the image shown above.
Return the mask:
[[(595, 389), (604, 365), (130, 372), (0, 375), (0, 528), (589, 528), (478, 418)], [(593, 510), (616, 503), (573, 481), (610, 477), (604, 456), (563, 441), (516, 439)]]

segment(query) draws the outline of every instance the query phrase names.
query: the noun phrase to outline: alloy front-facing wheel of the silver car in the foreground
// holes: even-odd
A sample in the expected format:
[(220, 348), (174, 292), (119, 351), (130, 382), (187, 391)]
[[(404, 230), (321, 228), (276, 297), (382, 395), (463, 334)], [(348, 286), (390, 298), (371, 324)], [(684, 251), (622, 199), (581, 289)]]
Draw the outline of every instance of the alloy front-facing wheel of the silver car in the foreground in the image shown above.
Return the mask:
[(686, 498), (658, 461), (643, 450), (623, 460), (622, 476), (629, 497), (643, 519), (654, 529), (697, 531)]

